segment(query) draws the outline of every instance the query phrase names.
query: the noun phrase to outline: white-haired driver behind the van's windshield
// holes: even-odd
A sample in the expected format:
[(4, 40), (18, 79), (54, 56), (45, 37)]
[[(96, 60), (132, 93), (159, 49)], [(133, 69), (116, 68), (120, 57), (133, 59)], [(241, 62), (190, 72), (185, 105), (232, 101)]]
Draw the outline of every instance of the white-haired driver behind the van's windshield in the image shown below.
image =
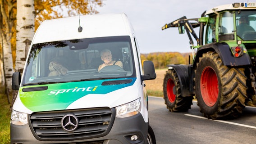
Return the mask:
[(118, 65), (119, 67), (123, 68), (123, 63), (121, 61), (113, 61), (112, 60), (112, 54), (109, 49), (104, 49), (101, 51), (101, 60), (104, 62), (102, 63), (98, 70), (100, 71), (101, 68), (105, 66), (110, 66), (110, 65)]

